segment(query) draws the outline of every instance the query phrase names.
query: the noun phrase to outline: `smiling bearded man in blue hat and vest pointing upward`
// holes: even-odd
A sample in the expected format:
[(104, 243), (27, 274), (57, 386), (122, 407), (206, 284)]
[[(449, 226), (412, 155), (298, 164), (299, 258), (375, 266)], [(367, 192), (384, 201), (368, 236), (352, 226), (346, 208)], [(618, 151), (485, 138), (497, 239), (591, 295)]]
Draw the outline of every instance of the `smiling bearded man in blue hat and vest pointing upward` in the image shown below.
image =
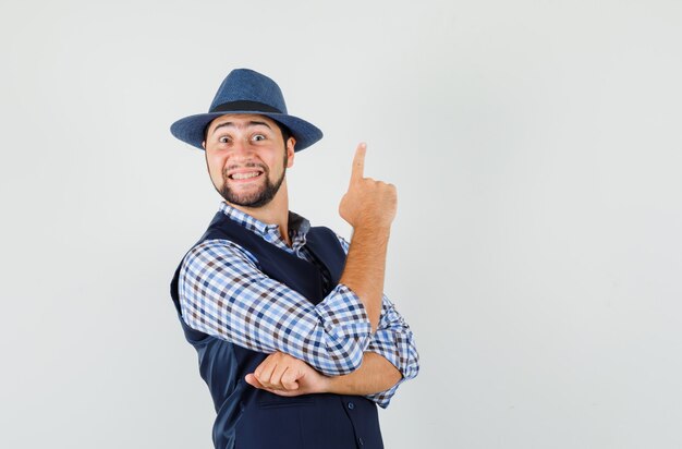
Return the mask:
[(339, 206), (350, 245), (291, 213), (287, 169), (322, 133), (251, 70), (171, 132), (205, 150), (224, 198), (171, 282), (216, 448), (381, 448), (376, 404), (418, 372), (412, 331), (382, 293), (395, 189), (364, 178), (361, 144)]

